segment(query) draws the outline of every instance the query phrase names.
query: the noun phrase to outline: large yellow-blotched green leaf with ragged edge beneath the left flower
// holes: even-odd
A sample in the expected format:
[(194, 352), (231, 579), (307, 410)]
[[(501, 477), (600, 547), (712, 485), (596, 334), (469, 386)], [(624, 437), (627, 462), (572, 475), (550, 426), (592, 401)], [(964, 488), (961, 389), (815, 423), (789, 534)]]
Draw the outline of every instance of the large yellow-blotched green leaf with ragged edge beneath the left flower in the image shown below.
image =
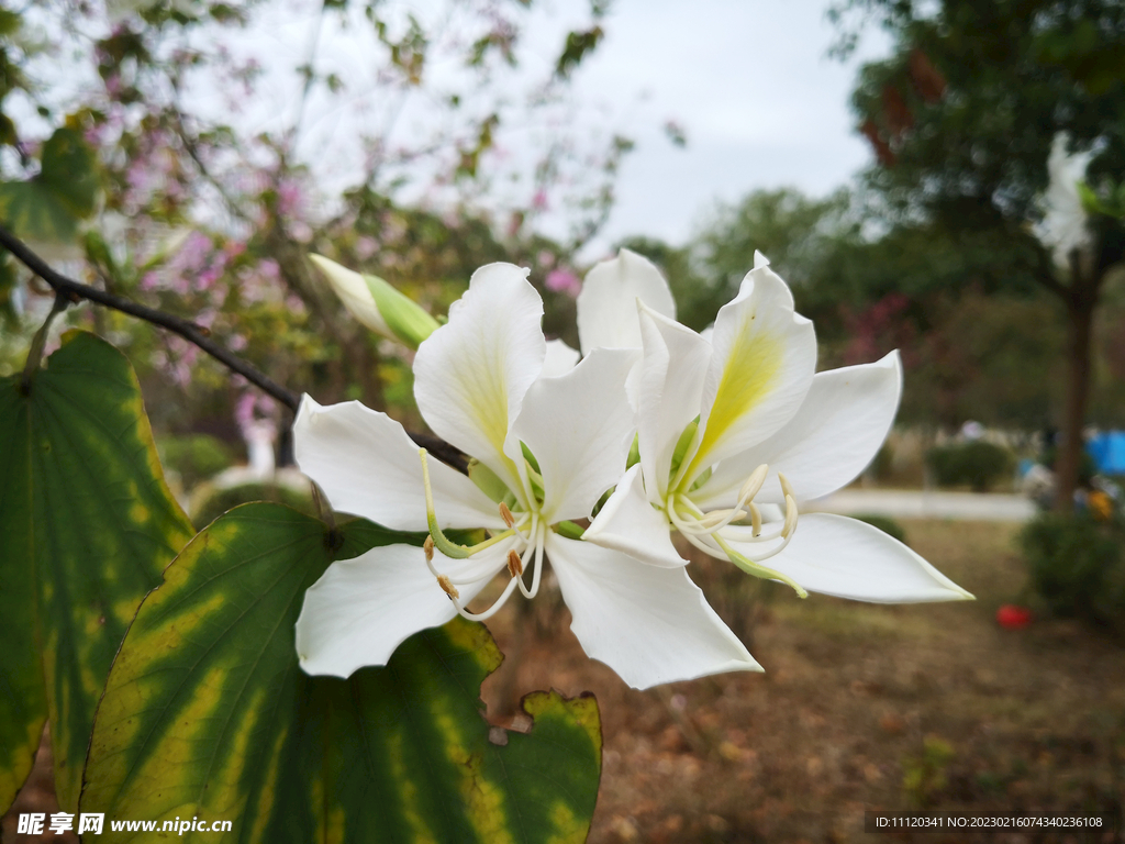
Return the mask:
[[(596, 703), (529, 695), (532, 731), (490, 743), (479, 686), (503, 657), (483, 625), (424, 630), (349, 680), (298, 667), (305, 590), (333, 558), (403, 538), (363, 520), (330, 530), (267, 503), (199, 533), (114, 663), (82, 810), (233, 821), (184, 842), (585, 841)], [(107, 825), (107, 842), (142, 839)]]

